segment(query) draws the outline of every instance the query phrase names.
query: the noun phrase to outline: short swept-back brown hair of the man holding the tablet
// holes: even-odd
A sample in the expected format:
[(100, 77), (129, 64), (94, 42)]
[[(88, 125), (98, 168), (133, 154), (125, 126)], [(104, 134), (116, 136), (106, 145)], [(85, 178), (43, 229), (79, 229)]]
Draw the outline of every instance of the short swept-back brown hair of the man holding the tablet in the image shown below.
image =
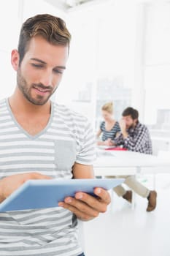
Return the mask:
[(66, 23), (58, 17), (50, 14), (41, 14), (28, 18), (20, 29), (18, 42), (18, 53), (20, 63), (28, 50), (28, 45), (32, 37), (41, 36), (53, 45), (70, 44), (71, 34), (66, 29)]

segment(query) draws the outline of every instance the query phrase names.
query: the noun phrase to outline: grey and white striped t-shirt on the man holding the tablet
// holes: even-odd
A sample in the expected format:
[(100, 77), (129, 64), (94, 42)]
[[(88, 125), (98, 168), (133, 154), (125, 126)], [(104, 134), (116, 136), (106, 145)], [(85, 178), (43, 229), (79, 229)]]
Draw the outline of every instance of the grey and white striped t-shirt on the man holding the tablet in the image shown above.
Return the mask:
[[(7, 99), (0, 102), (0, 178), (39, 172), (53, 178), (72, 178), (74, 162), (91, 165), (94, 135), (87, 119), (51, 104), (47, 126), (28, 134), (15, 120)], [(61, 207), (0, 212), (1, 256), (77, 256), (77, 219)]]

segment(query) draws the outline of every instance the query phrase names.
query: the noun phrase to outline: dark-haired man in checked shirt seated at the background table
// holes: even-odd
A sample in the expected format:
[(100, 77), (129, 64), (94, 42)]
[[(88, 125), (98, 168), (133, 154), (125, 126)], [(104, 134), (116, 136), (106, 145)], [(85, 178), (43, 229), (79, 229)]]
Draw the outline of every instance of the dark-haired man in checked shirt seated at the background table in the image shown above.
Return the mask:
[[(136, 151), (144, 154), (152, 154), (152, 143), (147, 127), (139, 122), (139, 113), (134, 108), (126, 108), (123, 111), (122, 119), (120, 120), (120, 135), (113, 142), (108, 142), (108, 145), (123, 146), (130, 151)], [(136, 181), (134, 176), (125, 176), (125, 184), (134, 190), (137, 194), (147, 198), (147, 211), (153, 211), (156, 207), (157, 193), (150, 191), (139, 181)], [(122, 196), (125, 200), (131, 203), (131, 190), (125, 191), (122, 186), (115, 189), (117, 195)]]

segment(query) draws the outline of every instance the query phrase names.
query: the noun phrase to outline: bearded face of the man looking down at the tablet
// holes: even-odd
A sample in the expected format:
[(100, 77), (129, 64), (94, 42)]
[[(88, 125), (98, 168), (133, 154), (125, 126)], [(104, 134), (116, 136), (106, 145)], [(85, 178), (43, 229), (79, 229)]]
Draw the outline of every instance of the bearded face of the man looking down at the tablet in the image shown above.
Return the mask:
[(66, 68), (68, 47), (51, 45), (42, 37), (31, 39), (17, 69), (18, 88), (34, 105), (44, 105), (58, 88)]

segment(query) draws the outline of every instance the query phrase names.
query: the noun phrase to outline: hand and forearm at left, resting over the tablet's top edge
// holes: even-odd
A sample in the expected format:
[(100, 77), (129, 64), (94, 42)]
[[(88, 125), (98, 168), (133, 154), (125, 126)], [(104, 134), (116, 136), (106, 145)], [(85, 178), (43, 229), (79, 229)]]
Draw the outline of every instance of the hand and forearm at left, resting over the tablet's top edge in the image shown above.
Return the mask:
[(0, 203), (12, 194), (24, 182), (30, 179), (50, 179), (50, 176), (41, 173), (21, 173), (7, 176), (0, 180)]

